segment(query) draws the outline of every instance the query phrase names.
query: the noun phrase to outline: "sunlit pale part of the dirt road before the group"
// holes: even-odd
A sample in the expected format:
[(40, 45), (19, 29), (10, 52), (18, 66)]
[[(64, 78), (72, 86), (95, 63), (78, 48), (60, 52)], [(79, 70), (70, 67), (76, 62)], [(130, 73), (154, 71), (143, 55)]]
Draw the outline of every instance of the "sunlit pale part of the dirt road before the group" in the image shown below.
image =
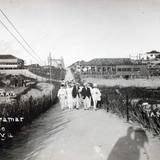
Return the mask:
[[(41, 149), (35, 148), (27, 160), (124, 160), (124, 155), (126, 160), (159, 160), (160, 141), (148, 133), (145, 152), (138, 147), (128, 152), (125, 147), (130, 148), (131, 144), (126, 143), (126, 135), (133, 125), (111, 113), (81, 109), (66, 110), (63, 115), (68, 123), (61, 126), (60, 132), (44, 140)], [(117, 141), (121, 141), (118, 148), (115, 147)], [(118, 155), (117, 159), (109, 159), (111, 152)]]

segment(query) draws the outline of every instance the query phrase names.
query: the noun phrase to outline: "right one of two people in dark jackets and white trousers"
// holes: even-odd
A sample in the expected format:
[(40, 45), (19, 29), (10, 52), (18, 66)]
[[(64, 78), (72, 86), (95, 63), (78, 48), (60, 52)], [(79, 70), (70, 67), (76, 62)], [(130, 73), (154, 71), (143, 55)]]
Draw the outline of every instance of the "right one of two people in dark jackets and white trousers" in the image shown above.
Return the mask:
[(84, 87), (81, 92), (83, 98), (84, 109), (88, 110), (91, 107), (91, 90), (88, 83), (84, 83)]

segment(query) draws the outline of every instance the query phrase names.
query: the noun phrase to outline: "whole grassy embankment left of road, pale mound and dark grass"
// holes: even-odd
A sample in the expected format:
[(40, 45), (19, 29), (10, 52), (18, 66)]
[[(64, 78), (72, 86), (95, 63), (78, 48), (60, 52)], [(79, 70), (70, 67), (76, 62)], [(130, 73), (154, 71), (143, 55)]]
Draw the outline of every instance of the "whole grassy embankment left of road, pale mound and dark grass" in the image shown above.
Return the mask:
[[(22, 85), (22, 80), (27, 83)], [(1, 101), (0, 117), (24, 117), (23, 123), (1, 122), (1, 126), (6, 126), (12, 132), (20, 129), (21, 126), (31, 122), (38, 115), (46, 111), (56, 101), (57, 90), (59, 88), (58, 82), (54, 82), (53, 84), (38, 82), (35, 79), (22, 75), (16, 77), (13, 75), (2, 75), (0, 83), (1, 88), (5, 91), (14, 91), (16, 93), (15, 99)]]

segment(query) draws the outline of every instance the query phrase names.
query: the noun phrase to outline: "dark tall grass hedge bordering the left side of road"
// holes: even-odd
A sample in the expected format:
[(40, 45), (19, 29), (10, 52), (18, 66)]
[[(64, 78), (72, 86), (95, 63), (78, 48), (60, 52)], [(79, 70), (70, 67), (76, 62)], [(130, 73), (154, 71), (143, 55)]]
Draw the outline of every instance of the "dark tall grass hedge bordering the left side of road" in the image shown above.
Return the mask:
[[(35, 86), (35, 84), (33, 84)], [(0, 117), (24, 117), (23, 123), (15, 122), (1, 122), (1, 126), (5, 126), (12, 134), (20, 130), (22, 126), (31, 123), (33, 119), (38, 117), (41, 113), (44, 113), (48, 108), (50, 108), (57, 101), (57, 91), (60, 86), (58, 82), (54, 83), (55, 88), (51, 95), (42, 96), (40, 98), (34, 99), (32, 96), (28, 100), (22, 100), (18, 95), (17, 101), (12, 104), (0, 104)], [(32, 86), (32, 87), (34, 87)], [(31, 88), (32, 88), (31, 87)], [(31, 88), (25, 90), (23, 94), (26, 94)]]

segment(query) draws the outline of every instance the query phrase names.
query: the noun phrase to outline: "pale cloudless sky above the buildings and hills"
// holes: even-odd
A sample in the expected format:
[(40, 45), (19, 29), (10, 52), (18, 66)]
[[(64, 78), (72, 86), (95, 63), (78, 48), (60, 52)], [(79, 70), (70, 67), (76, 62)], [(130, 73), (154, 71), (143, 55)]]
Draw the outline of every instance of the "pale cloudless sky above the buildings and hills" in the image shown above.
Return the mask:
[[(43, 64), (49, 53), (63, 57), (68, 66), (78, 60), (160, 51), (160, 0), (0, 0), (0, 9)], [(1, 13), (0, 20), (18, 37)], [(0, 54), (13, 54), (27, 64), (42, 63), (1, 23)]]

